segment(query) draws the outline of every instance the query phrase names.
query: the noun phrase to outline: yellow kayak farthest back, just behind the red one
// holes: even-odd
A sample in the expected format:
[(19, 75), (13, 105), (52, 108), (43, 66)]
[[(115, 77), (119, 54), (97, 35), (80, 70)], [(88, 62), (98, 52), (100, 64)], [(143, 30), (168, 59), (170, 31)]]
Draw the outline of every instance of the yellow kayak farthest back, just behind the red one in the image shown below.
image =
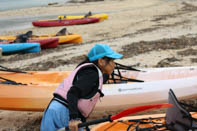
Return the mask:
[[(81, 15), (81, 16), (58, 16), (58, 19), (81, 19), (84, 18), (85, 15)], [(101, 14), (94, 14), (94, 15), (88, 15), (87, 17), (90, 18), (99, 18), (100, 21), (105, 20), (108, 18), (108, 15), (105, 13), (101, 13)]]

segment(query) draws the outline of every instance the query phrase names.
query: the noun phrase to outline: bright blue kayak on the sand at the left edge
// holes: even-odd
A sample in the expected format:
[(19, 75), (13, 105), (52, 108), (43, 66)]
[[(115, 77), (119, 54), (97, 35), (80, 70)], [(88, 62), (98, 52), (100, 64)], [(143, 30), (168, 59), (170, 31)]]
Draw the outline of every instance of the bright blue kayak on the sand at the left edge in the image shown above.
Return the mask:
[(13, 44), (0, 44), (0, 48), (2, 48), (2, 53), (10, 54), (10, 53), (35, 53), (40, 52), (40, 44), (39, 43), (13, 43)]

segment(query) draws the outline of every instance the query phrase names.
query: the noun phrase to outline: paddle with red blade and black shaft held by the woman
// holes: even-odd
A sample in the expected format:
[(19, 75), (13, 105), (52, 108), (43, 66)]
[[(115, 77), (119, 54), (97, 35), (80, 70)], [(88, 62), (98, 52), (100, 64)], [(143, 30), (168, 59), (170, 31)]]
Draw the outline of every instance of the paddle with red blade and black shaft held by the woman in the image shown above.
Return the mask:
[[(168, 107), (172, 107), (172, 105), (171, 104), (155, 104), (155, 105), (142, 105), (142, 106), (132, 107), (132, 108), (128, 108), (126, 110), (123, 110), (122, 112), (112, 115), (112, 116), (109, 115), (108, 117), (105, 117), (105, 118), (80, 123), (78, 125), (78, 127), (81, 128), (81, 127), (94, 125), (94, 124), (98, 124), (98, 123), (102, 123), (102, 122), (106, 122), (106, 121), (112, 122), (113, 120), (119, 119), (121, 117), (128, 116), (128, 115), (135, 114), (135, 113), (139, 113), (142, 111), (147, 111), (150, 109), (168, 108)], [(58, 131), (65, 131), (65, 128), (62, 128)]]

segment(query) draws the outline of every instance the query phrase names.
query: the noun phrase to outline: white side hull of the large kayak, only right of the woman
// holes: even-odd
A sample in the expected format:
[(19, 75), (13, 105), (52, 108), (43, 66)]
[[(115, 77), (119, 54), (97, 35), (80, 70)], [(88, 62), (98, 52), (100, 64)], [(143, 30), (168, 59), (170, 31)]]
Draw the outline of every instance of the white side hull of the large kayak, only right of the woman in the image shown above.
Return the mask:
[(168, 102), (169, 89), (179, 99), (197, 98), (197, 77), (160, 80), (144, 83), (112, 84), (103, 88), (105, 97), (97, 102), (96, 110), (116, 111), (125, 108)]

